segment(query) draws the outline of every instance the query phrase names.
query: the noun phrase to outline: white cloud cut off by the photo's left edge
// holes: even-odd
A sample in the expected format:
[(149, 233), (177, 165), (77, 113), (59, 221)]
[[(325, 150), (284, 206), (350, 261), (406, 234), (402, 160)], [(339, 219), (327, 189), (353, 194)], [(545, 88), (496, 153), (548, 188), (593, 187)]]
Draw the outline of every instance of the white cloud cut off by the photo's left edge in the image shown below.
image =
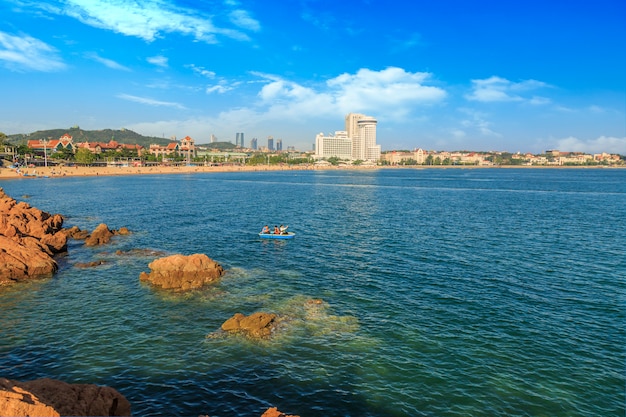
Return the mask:
[(13, 71), (54, 72), (66, 68), (52, 46), (28, 35), (0, 32), (0, 63)]

